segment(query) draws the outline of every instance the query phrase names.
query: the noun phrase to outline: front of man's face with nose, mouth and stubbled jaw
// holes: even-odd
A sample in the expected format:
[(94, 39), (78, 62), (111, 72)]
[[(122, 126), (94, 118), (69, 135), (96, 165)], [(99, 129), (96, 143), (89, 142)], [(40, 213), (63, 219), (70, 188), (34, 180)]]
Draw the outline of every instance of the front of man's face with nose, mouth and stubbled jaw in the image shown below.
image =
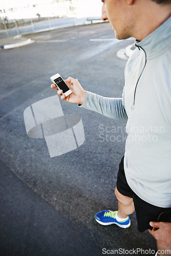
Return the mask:
[(126, 39), (132, 36), (132, 18), (129, 18), (130, 6), (125, 0), (101, 0), (102, 20), (109, 19), (117, 39)]

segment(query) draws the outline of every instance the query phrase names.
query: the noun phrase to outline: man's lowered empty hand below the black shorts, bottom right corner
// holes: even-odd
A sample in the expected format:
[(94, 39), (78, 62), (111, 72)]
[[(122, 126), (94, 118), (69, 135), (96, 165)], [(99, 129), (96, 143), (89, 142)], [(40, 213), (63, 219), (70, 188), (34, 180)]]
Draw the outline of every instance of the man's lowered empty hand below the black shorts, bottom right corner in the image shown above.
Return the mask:
[(157, 242), (165, 249), (171, 250), (171, 223), (169, 222), (150, 222), (153, 227), (148, 229), (149, 233), (157, 240)]

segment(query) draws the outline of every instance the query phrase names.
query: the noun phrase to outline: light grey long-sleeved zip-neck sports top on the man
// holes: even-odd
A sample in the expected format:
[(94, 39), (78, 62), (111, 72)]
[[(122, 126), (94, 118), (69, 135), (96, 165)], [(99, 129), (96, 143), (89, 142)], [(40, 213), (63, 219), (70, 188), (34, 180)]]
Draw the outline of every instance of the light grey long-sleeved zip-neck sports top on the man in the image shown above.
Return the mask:
[(122, 98), (87, 92), (81, 107), (127, 119), (126, 180), (142, 200), (171, 207), (171, 17), (135, 44)]

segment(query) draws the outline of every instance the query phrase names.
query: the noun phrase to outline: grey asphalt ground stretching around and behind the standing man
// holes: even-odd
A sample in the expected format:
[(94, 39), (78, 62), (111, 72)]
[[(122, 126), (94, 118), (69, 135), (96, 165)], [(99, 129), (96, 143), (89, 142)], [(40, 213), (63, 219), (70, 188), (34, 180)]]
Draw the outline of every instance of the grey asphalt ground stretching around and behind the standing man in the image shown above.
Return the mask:
[(23, 117), (29, 105), (56, 95), (49, 79), (55, 73), (77, 78), (85, 90), (121, 97), (126, 60), (116, 53), (132, 40), (116, 40), (109, 23), (28, 37), (34, 44), (0, 53), (1, 255), (96, 256), (102, 248), (152, 255), (147, 252), (156, 250), (155, 239), (138, 232), (135, 214), (126, 230), (94, 220), (99, 210), (117, 209), (125, 121), (60, 100), (65, 114), (81, 116), (86, 142), (50, 158), (44, 139), (27, 136)]

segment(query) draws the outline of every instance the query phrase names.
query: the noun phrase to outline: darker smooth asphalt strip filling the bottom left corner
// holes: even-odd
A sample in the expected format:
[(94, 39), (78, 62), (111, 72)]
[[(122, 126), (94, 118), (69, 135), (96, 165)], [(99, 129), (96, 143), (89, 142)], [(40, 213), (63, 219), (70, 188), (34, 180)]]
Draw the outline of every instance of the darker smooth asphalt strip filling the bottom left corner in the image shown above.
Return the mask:
[(63, 217), (0, 162), (0, 252), (3, 256), (97, 256), (85, 227)]

